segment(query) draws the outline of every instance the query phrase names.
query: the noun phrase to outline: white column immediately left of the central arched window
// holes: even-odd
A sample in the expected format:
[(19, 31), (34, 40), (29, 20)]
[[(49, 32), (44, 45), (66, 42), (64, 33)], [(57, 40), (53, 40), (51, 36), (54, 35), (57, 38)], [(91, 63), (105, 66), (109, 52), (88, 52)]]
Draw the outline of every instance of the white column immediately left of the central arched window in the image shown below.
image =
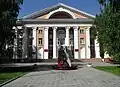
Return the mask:
[(54, 58), (57, 58), (57, 56), (56, 56), (56, 29), (57, 29), (57, 27), (53, 27), (53, 59)]

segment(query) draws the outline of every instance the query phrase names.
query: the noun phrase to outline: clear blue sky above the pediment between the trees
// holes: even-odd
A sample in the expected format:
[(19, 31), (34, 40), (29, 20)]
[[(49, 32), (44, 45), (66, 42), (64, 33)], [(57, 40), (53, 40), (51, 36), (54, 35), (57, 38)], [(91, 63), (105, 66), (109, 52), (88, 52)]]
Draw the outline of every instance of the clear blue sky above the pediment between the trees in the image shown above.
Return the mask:
[(58, 3), (69, 5), (92, 15), (100, 13), (100, 5), (97, 0), (24, 0), (23, 5), (20, 6), (19, 17), (21, 18)]

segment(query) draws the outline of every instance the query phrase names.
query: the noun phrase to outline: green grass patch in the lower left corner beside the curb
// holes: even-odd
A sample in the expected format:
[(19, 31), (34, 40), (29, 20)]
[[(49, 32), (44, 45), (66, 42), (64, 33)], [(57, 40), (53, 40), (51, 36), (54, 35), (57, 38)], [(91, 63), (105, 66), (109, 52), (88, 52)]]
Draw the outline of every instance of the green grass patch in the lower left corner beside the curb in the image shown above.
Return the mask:
[(24, 72), (0, 73), (0, 84), (23, 74)]

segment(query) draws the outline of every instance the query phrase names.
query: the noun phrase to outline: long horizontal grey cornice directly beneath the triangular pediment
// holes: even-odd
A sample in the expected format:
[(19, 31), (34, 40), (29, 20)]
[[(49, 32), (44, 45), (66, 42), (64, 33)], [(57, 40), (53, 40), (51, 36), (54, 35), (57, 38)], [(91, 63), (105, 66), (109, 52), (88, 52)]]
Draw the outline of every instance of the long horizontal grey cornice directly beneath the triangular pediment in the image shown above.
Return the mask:
[(17, 24), (91, 24), (93, 19), (22, 19)]

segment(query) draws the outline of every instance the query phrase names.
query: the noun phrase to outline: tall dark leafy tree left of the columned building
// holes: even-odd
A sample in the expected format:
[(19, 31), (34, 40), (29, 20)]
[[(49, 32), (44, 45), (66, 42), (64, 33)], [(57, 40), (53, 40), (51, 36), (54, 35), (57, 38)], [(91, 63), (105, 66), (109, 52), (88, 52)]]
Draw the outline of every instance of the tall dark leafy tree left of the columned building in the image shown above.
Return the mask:
[(10, 54), (7, 52), (10, 52), (15, 37), (12, 28), (16, 25), (22, 3), (23, 0), (0, 0), (0, 57)]

